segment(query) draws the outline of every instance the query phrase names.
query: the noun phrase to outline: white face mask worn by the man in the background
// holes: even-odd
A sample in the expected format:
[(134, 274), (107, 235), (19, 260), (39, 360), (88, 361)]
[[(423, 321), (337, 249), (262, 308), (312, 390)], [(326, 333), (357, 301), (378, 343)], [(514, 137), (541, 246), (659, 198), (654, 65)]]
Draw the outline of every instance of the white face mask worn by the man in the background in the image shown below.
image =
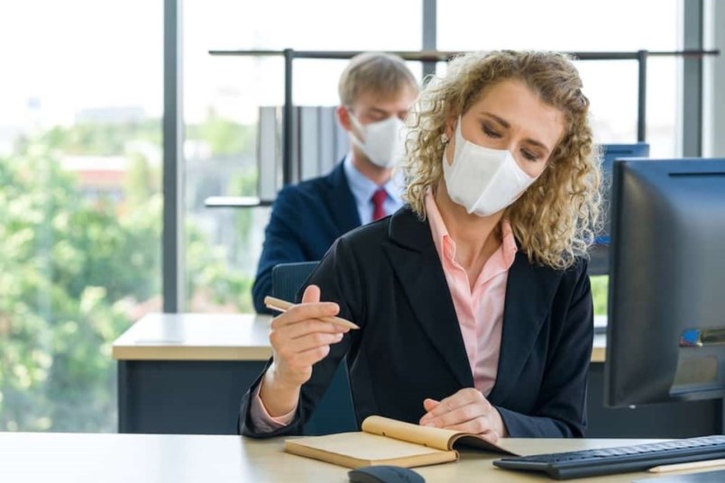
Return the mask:
[[(363, 124), (350, 113), (350, 119), (360, 132), (359, 139), (350, 132), (355, 146), (363, 151), (376, 166), (391, 168), (405, 155), (405, 124), (397, 116), (391, 115), (377, 123)], [(363, 141), (364, 140), (364, 141)]]

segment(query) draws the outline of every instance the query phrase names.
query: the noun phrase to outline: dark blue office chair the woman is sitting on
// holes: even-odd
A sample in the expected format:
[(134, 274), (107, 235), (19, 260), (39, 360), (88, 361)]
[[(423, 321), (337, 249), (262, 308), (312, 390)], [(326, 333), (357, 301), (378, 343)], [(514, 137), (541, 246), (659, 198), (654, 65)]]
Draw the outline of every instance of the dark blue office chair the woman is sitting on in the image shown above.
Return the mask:
[[(272, 268), (272, 296), (297, 302), (299, 288), (317, 268), (317, 261), (280, 263)], [(345, 433), (357, 431), (353, 412), (353, 398), (350, 396), (350, 381), (347, 378), (347, 360), (344, 359), (335, 371), (330, 386), (317, 403), (317, 408), (305, 424), (307, 435)]]

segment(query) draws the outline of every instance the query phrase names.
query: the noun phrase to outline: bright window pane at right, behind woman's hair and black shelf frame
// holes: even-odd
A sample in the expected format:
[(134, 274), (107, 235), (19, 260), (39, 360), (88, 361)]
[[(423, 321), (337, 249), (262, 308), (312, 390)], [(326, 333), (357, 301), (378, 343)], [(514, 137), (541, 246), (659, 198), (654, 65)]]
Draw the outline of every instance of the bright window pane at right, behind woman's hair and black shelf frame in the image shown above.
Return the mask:
[[(438, 50), (672, 51), (682, 48), (677, 0), (438, 2)], [(647, 19), (656, 11), (657, 27)], [(576, 63), (592, 103), (597, 142), (637, 141), (638, 63)], [(646, 141), (652, 157), (681, 154), (682, 59), (647, 60)], [(595, 314), (607, 313), (608, 277), (592, 277)]]

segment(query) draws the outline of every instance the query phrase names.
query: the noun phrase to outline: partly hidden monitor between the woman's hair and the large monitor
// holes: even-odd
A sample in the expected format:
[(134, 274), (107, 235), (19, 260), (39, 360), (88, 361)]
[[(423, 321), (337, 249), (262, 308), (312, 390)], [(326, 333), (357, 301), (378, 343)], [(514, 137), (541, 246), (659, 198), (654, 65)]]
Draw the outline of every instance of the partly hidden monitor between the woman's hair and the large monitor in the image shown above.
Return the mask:
[(601, 175), (604, 189), (604, 202), (602, 212), (604, 214), (604, 228), (597, 234), (592, 245), (589, 260), (590, 275), (606, 275), (610, 269), (610, 213), (609, 213), (609, 189), (611, 184), (611, 166), (614, 159), (619, 158), (647, 158), (649, 156), (649, 144), (647, 142), (635, 142), (632, 144), (601, 144)]

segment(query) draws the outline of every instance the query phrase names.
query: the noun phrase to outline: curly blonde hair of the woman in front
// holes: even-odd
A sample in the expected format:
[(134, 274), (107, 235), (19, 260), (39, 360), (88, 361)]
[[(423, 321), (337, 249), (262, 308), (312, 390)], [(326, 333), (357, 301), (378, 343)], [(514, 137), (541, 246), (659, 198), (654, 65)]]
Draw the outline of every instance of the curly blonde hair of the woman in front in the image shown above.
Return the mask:
[(546, 169), (504, 212), (504, 218), (528, 259), (567, 269), (587, 257), (601, 228), (601, 156), (592, 141), (589, 100), (582, 80), (564, 54), (540, 51), (472, 52), (452, 59), (445, 77), (435, 77), (418, 99), (408, 120), (405, 200), (426, 218), (425, 196), (443, 177), (449, 119), (465, 114), (486, 87), (518, 80), (543, 102), (564, 114), (564, 136)]

